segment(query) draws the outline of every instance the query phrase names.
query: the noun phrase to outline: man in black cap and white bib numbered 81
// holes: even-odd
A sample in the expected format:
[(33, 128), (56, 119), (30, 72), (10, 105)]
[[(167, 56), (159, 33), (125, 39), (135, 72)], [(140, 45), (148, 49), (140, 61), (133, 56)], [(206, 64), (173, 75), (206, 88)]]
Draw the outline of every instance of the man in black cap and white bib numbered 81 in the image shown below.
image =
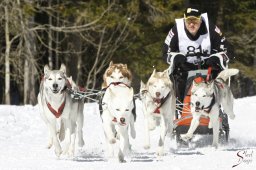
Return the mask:
[(183, 102), (188, 71), (212, 67), (211, 78), (215, 79), (227, 67), (226, 53), (226, 39), (207, 13), (187, 8), (184, 18), (175, 20), (163, 46), (163, 59), (170, 64), (178, 100)]

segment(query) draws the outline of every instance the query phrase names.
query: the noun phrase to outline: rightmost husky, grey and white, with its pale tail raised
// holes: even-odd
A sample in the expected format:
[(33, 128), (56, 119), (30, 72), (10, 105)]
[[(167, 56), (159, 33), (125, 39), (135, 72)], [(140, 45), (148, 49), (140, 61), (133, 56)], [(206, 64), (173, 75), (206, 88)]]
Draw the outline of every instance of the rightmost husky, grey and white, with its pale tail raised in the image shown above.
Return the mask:
[(186, 134), (181, 135), (181, 139), (188, 141), (192, 138), (194, 131), (199, 125), (201, 115), (210, 118), (208, 128), (213, 128), (213, 142), (214, 147), (218, 147), (219, 141), (219, 109), (220, 105), (227, 115), (234, 119), (233, 112), (233, 95), (226, 84), (226, 80), (236, 75), (239, 72), (237, 69), (226, 69), (220, 72), (217, 78), (211, 82), (193, 81), (191, 89), (191, 113), (193, 119)]

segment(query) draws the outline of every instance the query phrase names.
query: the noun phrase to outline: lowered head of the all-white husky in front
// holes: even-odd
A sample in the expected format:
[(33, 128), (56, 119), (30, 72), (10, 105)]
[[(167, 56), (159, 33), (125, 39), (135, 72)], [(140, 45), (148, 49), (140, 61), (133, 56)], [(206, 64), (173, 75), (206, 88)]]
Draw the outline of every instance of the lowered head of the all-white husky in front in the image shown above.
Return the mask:
[(108, 88), (108, 107), (119, 125), (125, 126), (130, 122), (133, 105), (133, 88), (125, 85), (112, 85)]

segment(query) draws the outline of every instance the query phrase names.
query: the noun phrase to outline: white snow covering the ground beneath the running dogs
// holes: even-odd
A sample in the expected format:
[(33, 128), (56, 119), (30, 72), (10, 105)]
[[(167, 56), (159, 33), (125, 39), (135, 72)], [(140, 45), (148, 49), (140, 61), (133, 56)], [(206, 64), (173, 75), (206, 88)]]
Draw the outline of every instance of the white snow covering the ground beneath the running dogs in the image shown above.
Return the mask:
[[(196, 135), (189, 148), (178, 148), (175, 139), (165, 140), (165, 155), (155, 154), (159, 129), (151, 132), (151, 148), (144, 150), (143, 114), (137, 102), (136, 139), (127, 163), (107, 160), (105, 139), (96, 103), (85, 104), (85, 146), (75, 158), (57, 158), (46, 149), (47, 129), (38, 106), (0, 105), (0, 170), (216, 170), (256, 169), (256, 96), (236, 99), (235, 120), (229, 120), (230, 142), (218, 149), (211, 147), (211, 136)], [(233, 165), (237, 165), (232, 168)]]

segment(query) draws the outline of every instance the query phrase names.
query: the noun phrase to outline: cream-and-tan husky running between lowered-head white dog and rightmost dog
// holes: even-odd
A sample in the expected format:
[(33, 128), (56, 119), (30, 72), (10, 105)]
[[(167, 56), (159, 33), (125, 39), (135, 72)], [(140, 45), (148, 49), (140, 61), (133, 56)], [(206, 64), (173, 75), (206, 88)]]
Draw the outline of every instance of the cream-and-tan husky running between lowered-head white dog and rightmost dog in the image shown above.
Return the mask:
[(153, 71), (147, 84), (141, 82), (140, 95), (144, 113), (145, 149), (150, 148), (149, 131), (156, 126), (161, 127), (157, 154), (164, 154), (164, 141), (167, 132), (173, 130), (175, 113), (175, 92), (173, 83), (169, 78), (168, 70)]

